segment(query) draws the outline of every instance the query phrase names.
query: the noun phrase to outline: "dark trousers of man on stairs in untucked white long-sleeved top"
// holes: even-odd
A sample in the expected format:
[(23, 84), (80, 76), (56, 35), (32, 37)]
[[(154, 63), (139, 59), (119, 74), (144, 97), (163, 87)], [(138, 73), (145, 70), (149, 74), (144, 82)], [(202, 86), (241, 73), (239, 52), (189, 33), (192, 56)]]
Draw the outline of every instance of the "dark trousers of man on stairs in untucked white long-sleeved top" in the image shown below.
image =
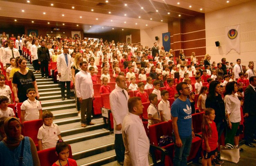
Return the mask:
[[(85, 119), (86, 112), (86, 119)], [(91, 122), (92, 115), (92, 98), (83, 99), (81, 103), (81, 123), (89, 124)]]

